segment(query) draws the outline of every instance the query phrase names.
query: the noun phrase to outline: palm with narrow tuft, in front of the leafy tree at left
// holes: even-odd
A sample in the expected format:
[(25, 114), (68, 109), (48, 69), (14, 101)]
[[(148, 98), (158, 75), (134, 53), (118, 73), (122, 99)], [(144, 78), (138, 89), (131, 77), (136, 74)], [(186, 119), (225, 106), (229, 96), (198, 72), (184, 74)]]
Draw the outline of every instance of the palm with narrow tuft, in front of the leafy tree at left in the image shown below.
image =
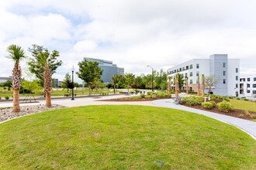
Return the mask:
[(50, 107), (51, 106), (51, 98), (50, 98), (50, 92), (51, 92), (51, 74), (50, 69), (48, 66), (48, 56), (47, 53), (40, 53), (40, 62), (43, 63), (44, 71), (43, 71), (43, 88), (46, 92), (46, 100), (45, 100), (45, 106)]

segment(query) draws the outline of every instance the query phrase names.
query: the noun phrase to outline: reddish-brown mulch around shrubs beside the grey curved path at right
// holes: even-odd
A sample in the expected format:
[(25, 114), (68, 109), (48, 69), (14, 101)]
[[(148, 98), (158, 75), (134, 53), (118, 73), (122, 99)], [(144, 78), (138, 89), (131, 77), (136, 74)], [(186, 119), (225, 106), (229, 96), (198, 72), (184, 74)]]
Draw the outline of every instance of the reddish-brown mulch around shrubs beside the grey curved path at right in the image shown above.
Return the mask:
[[(208, 101), (208, 100), (206, 100), (206, 101)], [(215, 103), (217, 104), (217, 103), (222, 102), (223, 100), (222, 99), (214, 99), (213, 101), (215, 101)], [(227, 101), (229, 101), (229, 100), (227, 100)], [(182, 104), (182, 102), (180, 104)], [(246, 120), (255, 119), (255, 118), (252, 118), (249, 115), (247, 115), (244, 110), (239, 110), (239, 109), (234, 109), (234, 110), (232, 110), (228, 113), (225, 113), (225, 112), (223, 112), (219, 109), (219, 106), (213, 107), (212, 109), (206, 109), (202, 105), (196, 105), (196, 106), (190, 106), (189, 104), (182, 104), (182, 105), (186, 106), (186, 107), (192, 107), (192, 108), (195, 108), (195, 109), (211, 111), (211, 112), (214, 112), (214, 113), (217, 113), (217, 114), (225, 114), (227, 116), (238, 117), (238, 118), (242, 118), (242, 119), (246, 119)], [(254, 112), (254, 111), (249, 111), (249, 113), (256, 115), (256, 112)], [(244, 117), (240, 117), (240, 114), (243, 114)]]

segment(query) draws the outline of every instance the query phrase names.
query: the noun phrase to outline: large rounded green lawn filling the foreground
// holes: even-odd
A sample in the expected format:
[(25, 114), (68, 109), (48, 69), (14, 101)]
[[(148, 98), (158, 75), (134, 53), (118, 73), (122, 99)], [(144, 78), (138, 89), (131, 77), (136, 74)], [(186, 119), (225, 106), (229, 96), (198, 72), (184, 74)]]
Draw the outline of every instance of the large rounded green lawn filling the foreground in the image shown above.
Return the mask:
[(3, 169), (255, 169), (255, 152), (230, 124), (164, 107), (71, 107), (0, 124)]

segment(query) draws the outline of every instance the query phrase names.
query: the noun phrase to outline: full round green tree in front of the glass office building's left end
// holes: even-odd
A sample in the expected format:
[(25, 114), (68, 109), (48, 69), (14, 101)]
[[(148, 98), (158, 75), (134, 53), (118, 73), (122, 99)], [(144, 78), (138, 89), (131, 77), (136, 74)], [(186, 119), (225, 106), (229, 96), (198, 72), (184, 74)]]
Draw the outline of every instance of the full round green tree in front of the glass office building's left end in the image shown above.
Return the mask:
[(78, 66), (79, 71), (76, 73), (81, 80), (84, 80), (86, 83), (88, 83), (89, 96), (91, 96), (92, 84), (95, 81), (100, 80), (100, 76), (102, 75), (103, 70), (99, 67), (98, 62), (87, 61), (86, 59), (79, 62)]

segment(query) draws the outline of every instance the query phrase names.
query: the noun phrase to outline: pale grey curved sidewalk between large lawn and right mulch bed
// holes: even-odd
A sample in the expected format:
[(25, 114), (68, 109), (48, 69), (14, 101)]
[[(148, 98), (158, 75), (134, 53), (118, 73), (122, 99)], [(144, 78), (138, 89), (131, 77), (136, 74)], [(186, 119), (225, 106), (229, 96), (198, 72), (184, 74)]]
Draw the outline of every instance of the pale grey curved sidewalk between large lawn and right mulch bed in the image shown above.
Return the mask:
[(151, 101), (152, 104), (155, 104), (157, 106), (161, 107), (169, 107), (169, 108), (174, 108), (178, 110), (185, 110), (185, 111), (190, 111), (196, 114), (202, 114), (207, 117), (212, 117), (216, 120), (223, 121), (227, 124), (232, 124), (237, 128), (240, 128), (241, 130), (247, 132), (247, 134), (250, 134), (252, 138), (256, 139), (256, 122), (254, 121), (247, 121), (244, 119), (240, 119), (237, 117), (230, 117), (224, 114), (216, 114), (210, 111), (206, 110), (199, 110), (199, 109), (194, 109), (192, 107), (185, 107), (180, 104), (176, 105), (173, 103), (174, 100), (172, 99), (163, 99), (163, 100), (153, 100)]

